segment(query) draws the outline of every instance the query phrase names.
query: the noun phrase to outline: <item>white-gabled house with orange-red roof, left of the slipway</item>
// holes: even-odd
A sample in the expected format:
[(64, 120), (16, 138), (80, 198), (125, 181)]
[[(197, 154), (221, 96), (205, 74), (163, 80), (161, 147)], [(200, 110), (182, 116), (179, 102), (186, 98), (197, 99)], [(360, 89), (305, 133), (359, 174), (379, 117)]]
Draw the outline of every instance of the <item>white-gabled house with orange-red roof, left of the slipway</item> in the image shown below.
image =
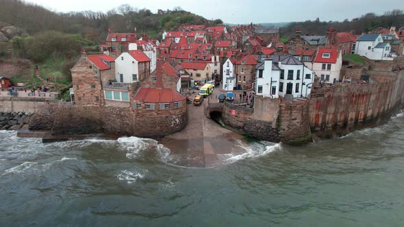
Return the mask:
[(150, 75), (150, 59), (142, 51), (121, 53), (115, 59), (116, 81), (134, 83)]

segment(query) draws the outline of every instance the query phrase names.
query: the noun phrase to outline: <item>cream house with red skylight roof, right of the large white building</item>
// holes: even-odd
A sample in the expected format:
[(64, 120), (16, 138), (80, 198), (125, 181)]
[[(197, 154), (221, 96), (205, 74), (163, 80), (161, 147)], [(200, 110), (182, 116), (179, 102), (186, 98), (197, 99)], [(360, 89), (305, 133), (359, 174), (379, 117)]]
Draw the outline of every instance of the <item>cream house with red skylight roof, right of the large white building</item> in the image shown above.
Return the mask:
[(321, 81), (336, 83), (340, 80), (342, 52), (336, 48), (320, 48), (312, 64), (306, 65), (313, 70)]

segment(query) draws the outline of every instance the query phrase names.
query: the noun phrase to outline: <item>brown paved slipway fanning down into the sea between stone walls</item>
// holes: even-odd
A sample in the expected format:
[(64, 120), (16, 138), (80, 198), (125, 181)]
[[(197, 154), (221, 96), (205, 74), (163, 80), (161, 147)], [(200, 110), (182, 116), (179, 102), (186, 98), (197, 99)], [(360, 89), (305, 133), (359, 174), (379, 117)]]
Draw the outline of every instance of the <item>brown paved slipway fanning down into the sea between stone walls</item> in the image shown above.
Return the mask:
[[(243, 136), (223, 128), (207, 118), (208, 99), (218, 102), (220, 90), (216, 88), (212, 95), (204, 99), (203, 105), (187, 105), (188, 124), (186, 128), (173, 135), (168, 135), (160, 142), (177, 155), (177, 165), (188, 167), (211, 167), (220, 163), (220, 155), (241, 154), (245, 152), (238, 146)], [(197, 91), (192, 96), (197, 95)], [(205, 114), (206, 113), (206, 114)]]

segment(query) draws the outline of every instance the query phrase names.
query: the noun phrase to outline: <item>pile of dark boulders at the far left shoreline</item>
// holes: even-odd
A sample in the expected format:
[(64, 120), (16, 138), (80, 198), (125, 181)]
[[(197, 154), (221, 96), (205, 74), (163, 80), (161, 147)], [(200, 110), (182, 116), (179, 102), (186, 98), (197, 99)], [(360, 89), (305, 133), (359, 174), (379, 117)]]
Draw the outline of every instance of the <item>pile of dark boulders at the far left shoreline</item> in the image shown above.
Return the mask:
[(0, 112), (0, 130), (18, 131), (24, 124), (29, 123), (32, 114), (25, 112)]

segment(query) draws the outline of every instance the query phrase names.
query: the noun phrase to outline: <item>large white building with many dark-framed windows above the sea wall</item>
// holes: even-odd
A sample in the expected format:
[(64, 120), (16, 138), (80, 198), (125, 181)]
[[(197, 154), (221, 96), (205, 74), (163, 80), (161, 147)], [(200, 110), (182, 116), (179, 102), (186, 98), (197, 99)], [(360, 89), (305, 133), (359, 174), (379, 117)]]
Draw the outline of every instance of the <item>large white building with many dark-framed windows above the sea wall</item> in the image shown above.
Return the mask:
[(255, 94), (271, 98), (307, 97), (314, 82), (314, 72), (292, 55), (273, 55), (257, 64), (256, 70)]

